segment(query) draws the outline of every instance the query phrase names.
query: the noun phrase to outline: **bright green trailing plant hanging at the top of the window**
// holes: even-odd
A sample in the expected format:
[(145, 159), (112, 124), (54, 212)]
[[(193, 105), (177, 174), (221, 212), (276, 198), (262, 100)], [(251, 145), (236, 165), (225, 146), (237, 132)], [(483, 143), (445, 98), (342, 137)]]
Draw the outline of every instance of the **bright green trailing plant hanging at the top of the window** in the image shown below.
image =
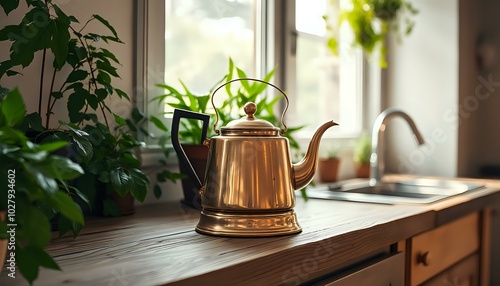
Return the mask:
[[(332, 0), (336, 2), (336, 0)], [(412, 16), (418, 11), (405, 0), (350, 0), (349, 5), (340, 11), (337, 25), (324, 16), (331, 36), (328, 47), (338, 55), (338, 28), (345, 22), (354, 34), (351, 45), (361, 47), (367, 55), (379, 52), (379, 64), (387, 67), (385, 41), (390, 31), (399, 37), (409, 35), (415, 26)]]

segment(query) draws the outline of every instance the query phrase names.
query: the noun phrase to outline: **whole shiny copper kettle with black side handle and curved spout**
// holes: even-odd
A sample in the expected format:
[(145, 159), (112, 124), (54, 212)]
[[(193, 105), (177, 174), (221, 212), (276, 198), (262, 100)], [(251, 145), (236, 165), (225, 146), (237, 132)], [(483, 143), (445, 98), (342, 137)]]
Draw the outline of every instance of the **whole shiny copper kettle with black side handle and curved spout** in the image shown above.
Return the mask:
[[(257, 105), (253, 102), (244, 106), (246, 117), (217, 129), (219, 113), (214, 105), (214, 95), (225, 85), (241, 80), (263, 82), (283, 94), (286, 107), (281, 116), (282, 130), (268, 121), (255, 118)], [(262, 80), (235, 79), (215, 89), (211, 102), (216, 114), (214, 131), (218, 135), (203, 140), (203, 145), (209, 149), (203, 183), (180, 146), (177, 133), (180, 119), (192, 118), (204, 121), (203, 134), (206, 134), (209, 117), (176, 109), (172, 121), (174, 149), (200, 190), (203, 209), (196, 231), (222, 236), (274, 236), (300, 232), (293, 210), (294, 190), (312, 181), (321, 137), (337, 123), (328, 121), (320, 126), (304, 159), (292, 164), (288, 139), (282, 136), (287, 130), (284, 116), (289, 100), (280, 88)]]

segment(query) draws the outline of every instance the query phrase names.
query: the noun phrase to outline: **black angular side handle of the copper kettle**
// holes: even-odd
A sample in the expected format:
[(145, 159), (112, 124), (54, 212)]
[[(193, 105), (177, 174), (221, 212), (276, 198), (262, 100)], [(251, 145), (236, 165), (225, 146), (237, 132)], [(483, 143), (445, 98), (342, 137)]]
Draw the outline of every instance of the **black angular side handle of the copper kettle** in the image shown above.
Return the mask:
[(198, 177), (198, 175), (196, 175), (193, 165), (189, 161), (189, 158), (187, 157), (186, 153), (184, 152), (184, 149), (182, 148), (179, 142), (179, 125), (181, 118), (197, 119), (203, 121), (203, 129), (201, 131), (201, 138), (200, 138), (200, 144), (203, 144), (203, 141), (207, 137), (208, 122), (210, 121), (210, 116), (182, 109), (174, 109), (174, 115), (172, 118), (171, 134), (172, 134), (172, 145), (174, 147), (174, 150), (178, 155), (180, 164), (182, 164), (186, 168), (189, 177), (191, 177), (191, 179), (194, 181), (196, 187), (198, 189), (201, 189), (202, 182)]

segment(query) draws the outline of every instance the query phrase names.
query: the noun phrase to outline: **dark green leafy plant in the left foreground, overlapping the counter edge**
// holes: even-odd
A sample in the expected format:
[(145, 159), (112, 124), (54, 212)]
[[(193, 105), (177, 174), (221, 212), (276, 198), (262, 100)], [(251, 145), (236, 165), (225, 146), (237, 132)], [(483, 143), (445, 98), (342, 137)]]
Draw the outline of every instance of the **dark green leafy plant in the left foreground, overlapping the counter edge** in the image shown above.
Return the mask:
[(60, 270), (44, 251), (51, 238), (49, 219), (60, 213), (60, 235), (72, 226), (76, 235), (84, 224), (82, 211), (72, 200), (79, 191), (67, 184), (83, 170), (68, 158), (51, 154), (68, 142), (31, 142), (17, 128), (25, 113), (17, 89), (0, 97), (0, 181), (4, 186), (0, 210), (7, 212), (7, 219), (0, 222), (0, 238), (9, 239), (7, 271), (15, 272), (17, 267), (32, 283), (41, 266)]

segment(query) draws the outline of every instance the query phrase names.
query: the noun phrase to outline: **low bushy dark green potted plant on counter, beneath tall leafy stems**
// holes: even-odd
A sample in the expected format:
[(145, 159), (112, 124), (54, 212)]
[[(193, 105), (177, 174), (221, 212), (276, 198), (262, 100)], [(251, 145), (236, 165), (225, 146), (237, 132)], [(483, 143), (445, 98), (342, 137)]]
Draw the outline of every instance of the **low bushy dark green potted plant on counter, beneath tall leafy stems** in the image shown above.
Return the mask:
[(144, 201), (150, 184), (134, 155), (144, 143), (132, 136), (126, 120), (116, 121), (114, 134), (101, 123), (86, 125), (82, 130), (92, 135), (93, 155), (88, 161), (77, 159), (85, 175), (77, 179), (76, 186), (88, 196), (96, 213), (104, 216), (134, 213), (134, 199)]

